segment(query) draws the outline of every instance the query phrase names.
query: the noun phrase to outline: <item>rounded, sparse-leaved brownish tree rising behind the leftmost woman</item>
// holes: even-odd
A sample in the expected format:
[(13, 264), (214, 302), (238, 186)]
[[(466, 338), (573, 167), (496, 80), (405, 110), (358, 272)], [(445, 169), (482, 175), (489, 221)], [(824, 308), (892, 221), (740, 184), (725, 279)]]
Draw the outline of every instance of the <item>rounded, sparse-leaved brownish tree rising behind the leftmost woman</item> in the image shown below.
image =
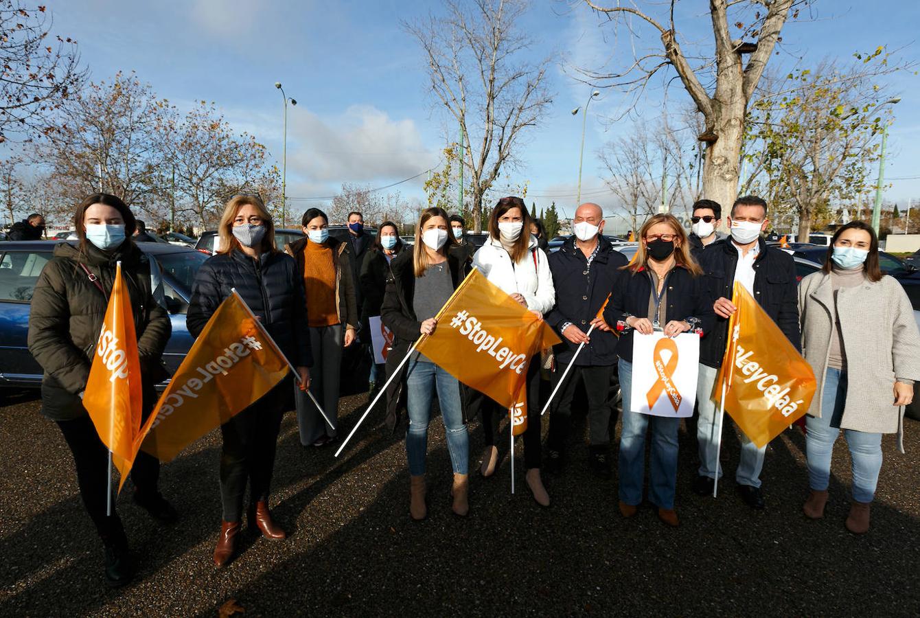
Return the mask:
[(174, 113), (135, 74), (116, 74), (66, 101), (38, 151), (39, 162), (72, 195), (102, 190), (129, 206), (144, 206), (160, 189), (163, 128)]

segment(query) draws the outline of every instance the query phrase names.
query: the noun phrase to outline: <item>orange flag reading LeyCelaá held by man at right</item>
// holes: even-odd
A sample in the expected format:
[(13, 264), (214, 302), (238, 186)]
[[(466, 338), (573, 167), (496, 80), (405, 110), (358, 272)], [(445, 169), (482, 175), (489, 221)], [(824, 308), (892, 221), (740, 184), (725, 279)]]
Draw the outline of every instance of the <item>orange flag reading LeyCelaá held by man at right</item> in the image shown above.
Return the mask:
[(815, 379), (811, 365), (789, 343), (744, 287), (735, 282), (731, 297), (731, 340), (722, 359), (712, 398), (758, 447), (765, 446), (811, 406)]

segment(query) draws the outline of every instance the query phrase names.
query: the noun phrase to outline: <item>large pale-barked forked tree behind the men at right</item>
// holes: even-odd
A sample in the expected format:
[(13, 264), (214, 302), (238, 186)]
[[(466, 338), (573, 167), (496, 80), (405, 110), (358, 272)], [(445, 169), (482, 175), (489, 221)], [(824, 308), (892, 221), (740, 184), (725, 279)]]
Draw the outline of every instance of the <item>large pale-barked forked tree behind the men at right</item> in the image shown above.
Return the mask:
[[(707, 143), (703, 195), (720, 204), (732, 203), (738, 193), (748, 103), (780, 39), (780, 30), (790, 14), (795, 16), (794, 7), (807, 4), (808, 0), (710, 0), (715, 52), (711, 56), (700, 52), (707, 57), (698, 59), (685, 54), (679, 43), (684, 37), (674, 23), (676, 0), (661, 3), (670, 6), (669, 15), (664, 16), (653, 16), (635, 6), (604, 7), (594, 0), (584, 1), (615, 26), (627, 29), (630, 38), (638, 40), (640, 28), (648, 27), (661, 40), (658, 51), (635, 54), (625, 70), (585, 71), (585, 74), (592, 82), (623, 87), (638, 96), (653, 75), (672, 67), (706, 123), (705, 131), (698, 137)], [(731, 35), (732, 28), (738, 30), (736, 37)], [(695, 67), (691, 62), (696, 60), (700, 62)]]

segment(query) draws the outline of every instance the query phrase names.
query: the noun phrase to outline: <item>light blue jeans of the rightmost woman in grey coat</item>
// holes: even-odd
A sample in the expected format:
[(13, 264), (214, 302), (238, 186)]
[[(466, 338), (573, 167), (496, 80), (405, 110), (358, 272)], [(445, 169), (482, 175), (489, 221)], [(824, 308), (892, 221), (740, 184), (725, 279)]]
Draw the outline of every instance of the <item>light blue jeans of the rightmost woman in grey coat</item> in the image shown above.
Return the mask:
[[(834, 442), (840, 436), (840, 420), (846, 402), (846, 372), (828, 368), (824, 376), (821, 418), (807, 417), (805, 452), (808, 458), (808, 482), (816, 491), (827, 489), (831, 480), (831, 457)], [(871, 502), (879, 485), (881, 470), (881, 434), (844, 429), (850, 448), (853, 469), (853, 499)]]

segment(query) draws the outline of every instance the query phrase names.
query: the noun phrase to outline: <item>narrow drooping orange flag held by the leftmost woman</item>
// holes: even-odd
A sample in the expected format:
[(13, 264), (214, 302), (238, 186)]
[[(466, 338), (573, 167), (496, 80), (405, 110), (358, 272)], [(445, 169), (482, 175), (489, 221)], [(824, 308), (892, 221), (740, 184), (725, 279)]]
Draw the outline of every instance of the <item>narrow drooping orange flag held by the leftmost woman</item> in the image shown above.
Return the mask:
[(83, 395), (83, 406), (96, 426), (99, 439), (112, 453), (112, 463), (121, 475), (119, 491), (137, 454), (134, 442), (141, 429), (142, 403), (134, 316), (131, 298), (121, 280), (119, 262)]

